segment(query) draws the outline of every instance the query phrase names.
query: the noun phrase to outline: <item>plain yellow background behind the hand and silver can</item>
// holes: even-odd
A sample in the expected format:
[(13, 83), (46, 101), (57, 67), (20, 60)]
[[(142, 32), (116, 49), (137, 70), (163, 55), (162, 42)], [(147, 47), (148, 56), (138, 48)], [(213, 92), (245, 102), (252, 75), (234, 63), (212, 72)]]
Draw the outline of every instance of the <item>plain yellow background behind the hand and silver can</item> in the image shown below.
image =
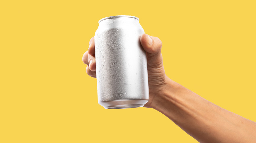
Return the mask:
[(140, 19), (166, 74), (256, 121), (255, 1), (1, 1), (0, 142), (196, 143), (154, 109), (107, 110), (82, 55), (98, 20)]

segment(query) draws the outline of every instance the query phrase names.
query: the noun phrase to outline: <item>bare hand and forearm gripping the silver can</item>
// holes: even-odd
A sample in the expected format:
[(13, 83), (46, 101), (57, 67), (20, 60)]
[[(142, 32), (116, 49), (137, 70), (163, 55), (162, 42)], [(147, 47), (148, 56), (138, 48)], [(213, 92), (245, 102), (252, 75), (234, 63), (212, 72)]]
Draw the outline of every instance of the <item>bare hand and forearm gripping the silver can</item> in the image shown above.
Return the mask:
[[(143, 34), (140, 42), (147, 54), (149, 102), (187, 134), (201, 143), (255, 143), (256, 123), (227, 111), (168, 78), (161, 54), (162, 42)], [(86, 73), (96, 78), (94, 37), (83, 55)]]

